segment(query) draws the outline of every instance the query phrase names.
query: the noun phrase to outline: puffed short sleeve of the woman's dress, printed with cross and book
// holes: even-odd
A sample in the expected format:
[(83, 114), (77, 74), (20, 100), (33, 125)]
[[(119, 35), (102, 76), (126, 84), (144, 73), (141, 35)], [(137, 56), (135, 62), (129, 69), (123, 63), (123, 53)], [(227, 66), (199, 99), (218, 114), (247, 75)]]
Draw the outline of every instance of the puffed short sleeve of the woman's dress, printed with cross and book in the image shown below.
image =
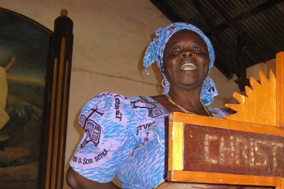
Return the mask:
[(110, 182), (137, 144), (130, 101), (114, 93), (98, 94), (83, 107), (79, 123), (85, 132), (71, 167), (87, 179)]

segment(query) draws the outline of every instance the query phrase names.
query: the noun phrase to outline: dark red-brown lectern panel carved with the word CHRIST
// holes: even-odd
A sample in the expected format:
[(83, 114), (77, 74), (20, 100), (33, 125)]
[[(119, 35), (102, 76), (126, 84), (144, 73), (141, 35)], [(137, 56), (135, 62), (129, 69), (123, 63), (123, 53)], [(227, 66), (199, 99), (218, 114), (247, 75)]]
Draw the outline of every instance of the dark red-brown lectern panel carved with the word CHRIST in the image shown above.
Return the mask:
[(284, 137), (184, 124), (184, 171), (284, 177)]

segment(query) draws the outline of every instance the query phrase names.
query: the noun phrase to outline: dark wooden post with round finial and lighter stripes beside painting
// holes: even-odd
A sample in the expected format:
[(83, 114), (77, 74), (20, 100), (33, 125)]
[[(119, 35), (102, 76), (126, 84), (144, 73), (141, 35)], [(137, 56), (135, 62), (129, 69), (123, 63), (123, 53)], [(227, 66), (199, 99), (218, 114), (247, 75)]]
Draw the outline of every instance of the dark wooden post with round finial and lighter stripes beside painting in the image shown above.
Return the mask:
[[(68, 116), (70, 74), (73, 49), (73, 22), (62, 10), (55, 20), (54, 33), (50, 36), (49, 71), (47, 78), (52, 94), (47, 97), (47, 126), (45, 128), (46, 165), (42, 167), (41, 188), (62, 188)], [(50, 118), (50, 119), (49, 119)]]

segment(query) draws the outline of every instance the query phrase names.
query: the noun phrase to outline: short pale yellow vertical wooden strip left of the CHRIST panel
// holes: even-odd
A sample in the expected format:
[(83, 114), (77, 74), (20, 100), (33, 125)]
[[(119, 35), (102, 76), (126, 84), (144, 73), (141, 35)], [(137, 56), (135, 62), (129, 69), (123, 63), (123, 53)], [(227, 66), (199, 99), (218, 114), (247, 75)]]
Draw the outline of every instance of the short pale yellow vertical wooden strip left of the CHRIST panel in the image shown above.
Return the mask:
[[(174, 152), (174, 153), (173, 153)], [(169, 123), (169, 161), (170, 170), (182, 170), (183, 163), (183, 123)]]

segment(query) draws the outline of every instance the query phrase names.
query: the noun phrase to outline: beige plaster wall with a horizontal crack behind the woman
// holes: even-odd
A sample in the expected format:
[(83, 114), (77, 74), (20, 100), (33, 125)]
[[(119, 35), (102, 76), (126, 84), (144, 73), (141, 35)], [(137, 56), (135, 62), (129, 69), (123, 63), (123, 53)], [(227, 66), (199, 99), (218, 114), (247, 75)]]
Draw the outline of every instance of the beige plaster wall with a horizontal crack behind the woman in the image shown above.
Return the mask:
[[(78, 124), (80, 109), (86, 101), (102, 91), (125, 96), (161, 94), (161, 76), (156, 65), (145, 74), (142, 58), (154, 30), (170, 24), (148, 0), (0, 0), (0, 7), (39, 22), (53, 30), (60, 10), (68, 10), (74, 22), (74, 47), (68, 111), (65, 171), (75, 147), (83, 135)], [(227, 80), (213, 67), (219, 95), (212, 107), (222, 108), (234, 102), (237, 84)], [(249, 75), (249, 74), (248, 74)], [(66, 183), (64, 188), (69, 188)]]

